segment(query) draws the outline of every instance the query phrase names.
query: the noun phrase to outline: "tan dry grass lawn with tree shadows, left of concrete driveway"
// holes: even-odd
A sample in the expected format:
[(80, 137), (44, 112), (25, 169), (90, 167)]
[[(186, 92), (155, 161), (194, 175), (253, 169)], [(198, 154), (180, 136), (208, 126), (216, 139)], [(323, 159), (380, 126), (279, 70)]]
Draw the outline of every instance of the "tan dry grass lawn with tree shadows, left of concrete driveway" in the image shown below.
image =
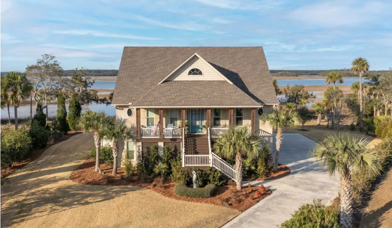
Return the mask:
[(91, 135), (49, 147), (1, 187), (2, 227), (219, 227), (238, 211), (170, 199), (136, 186), (83, 185), (69, 175), (87, 158)]

